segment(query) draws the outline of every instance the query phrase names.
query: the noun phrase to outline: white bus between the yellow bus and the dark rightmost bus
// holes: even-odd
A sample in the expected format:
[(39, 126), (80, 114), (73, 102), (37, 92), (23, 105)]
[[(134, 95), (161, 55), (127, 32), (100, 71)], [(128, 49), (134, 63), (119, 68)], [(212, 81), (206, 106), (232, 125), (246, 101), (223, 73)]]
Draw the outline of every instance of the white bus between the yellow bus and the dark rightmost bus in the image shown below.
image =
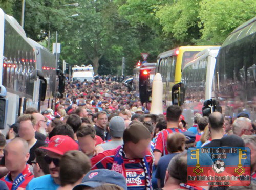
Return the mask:
[(215, 84), (212, 79), (219, 49), (220, 46), (208, 47), (183, 68), (181, 84), (184, 91), (180, 98), (184, 102), (182, 114), (189, 126), (193, 125), (195, 113), (202, 114), (204, 101), (214, 97), (212, 86)]

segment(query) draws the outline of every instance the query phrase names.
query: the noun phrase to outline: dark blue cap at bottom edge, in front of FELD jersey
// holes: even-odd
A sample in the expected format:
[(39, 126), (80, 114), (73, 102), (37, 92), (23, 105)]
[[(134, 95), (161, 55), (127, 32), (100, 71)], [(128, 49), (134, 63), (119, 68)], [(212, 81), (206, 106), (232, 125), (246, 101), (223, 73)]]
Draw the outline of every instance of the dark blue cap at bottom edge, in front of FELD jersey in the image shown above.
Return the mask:
[(95, 188), (104, 183), (115, 184), (127, 190), (125, 177), (116, 171), (108, 169), (91, 170), (82, 178), (82, 183), (76, 185), (73, 190), (81, 190), (84, 187)]

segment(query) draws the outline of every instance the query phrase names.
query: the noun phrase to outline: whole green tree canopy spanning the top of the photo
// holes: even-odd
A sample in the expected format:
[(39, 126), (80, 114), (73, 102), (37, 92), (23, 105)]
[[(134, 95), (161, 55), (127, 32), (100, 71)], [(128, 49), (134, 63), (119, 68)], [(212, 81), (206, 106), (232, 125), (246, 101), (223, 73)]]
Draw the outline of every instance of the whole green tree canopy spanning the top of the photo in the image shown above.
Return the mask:
[[(78, 7), (71, 6), (78, 3)], [(70, 5), (71, 4), (71, 5)], [(22, 1), (0, 0), (0, 8), (20, 21)], [(61, 43), (61, 59), (93, 64), (95, 73), (125, 74), (142, 60), (181, 45), (220, 45), (255, 16), (253, 0), (26, 0), (27, 37)]]

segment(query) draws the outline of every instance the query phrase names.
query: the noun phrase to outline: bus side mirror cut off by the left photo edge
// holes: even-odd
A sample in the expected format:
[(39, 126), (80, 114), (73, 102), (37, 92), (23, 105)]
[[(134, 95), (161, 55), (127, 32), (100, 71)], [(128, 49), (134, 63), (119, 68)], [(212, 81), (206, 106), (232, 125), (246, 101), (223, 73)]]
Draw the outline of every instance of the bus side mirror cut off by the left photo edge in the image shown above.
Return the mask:
[(6, 88), (0, 86), (0, 129), (5, 129), (7, 121), (7, 108), (8, 108), (8, 99), (6, 98)]

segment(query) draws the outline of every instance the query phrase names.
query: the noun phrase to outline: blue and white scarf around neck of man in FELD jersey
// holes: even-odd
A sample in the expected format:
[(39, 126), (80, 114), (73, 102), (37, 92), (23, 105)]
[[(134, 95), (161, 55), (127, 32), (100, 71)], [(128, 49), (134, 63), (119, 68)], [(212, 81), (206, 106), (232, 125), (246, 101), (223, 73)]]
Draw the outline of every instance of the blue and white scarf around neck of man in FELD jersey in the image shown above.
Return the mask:
[[(117, 149), (111, 170), (121, 173), (126, 178), (125, 166), (123, 162), (123, 156), (124, 156), (123, 146), (124, 145), (120, 146)], [(141, 162), (142, 162), (143, 169), (145, 172), (145, 177), (146, 177), (146, 190), (151, 190), (152, 186), (151, 186), (151, 179), (149, 175), (150, 167), (148, 167), (148, 163), (145, 157), (141, 158)]]

